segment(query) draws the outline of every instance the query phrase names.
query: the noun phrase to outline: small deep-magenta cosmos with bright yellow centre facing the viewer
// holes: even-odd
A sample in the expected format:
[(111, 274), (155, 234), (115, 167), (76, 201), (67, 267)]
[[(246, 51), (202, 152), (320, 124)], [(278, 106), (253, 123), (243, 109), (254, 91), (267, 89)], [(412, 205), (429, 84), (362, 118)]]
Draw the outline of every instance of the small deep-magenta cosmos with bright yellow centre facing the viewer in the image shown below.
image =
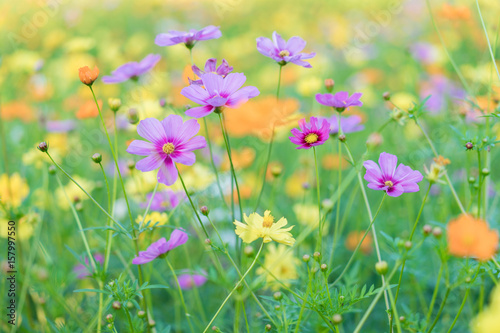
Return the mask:
[(330, 136), (330, 123), (326, 119), (322, 119), (321, 125), (318, 124), (316, 117), (311, 117), (309, 124), (305, 119), (301, 119), (299, 127), (300, 131), (293, 128), (293, 136), (289, 137), (290, 141), (298, 146), (297, 149), (310, 149), (322, 145)]

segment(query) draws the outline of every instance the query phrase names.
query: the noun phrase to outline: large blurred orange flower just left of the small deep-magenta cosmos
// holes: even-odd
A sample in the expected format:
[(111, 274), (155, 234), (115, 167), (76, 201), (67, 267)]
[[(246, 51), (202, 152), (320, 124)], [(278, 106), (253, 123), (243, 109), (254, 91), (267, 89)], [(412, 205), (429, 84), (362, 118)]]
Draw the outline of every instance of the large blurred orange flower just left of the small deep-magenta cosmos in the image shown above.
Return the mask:
[(281, 127), (296, 123), (299, 109), (295, 99), (276, 101), (276, 97), (268, 96), (258, 100), (250, 100), (237, 109), (227, 110), (226, 128), (231, 136), (257, 136), (262, 139), (271, 137), (273, 127)]

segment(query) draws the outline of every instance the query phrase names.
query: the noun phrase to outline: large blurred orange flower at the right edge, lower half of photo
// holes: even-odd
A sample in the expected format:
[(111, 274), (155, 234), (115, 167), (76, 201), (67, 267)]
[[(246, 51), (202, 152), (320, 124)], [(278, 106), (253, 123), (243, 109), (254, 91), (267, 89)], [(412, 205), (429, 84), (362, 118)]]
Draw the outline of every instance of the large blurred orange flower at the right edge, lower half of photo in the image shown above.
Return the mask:
[(498, 247), (498, 232), (488, 227), (486, 221), (462, 214), (450, 221), (447, 227), (448, 249), (457, 257), (474, 257), (487, 261)]

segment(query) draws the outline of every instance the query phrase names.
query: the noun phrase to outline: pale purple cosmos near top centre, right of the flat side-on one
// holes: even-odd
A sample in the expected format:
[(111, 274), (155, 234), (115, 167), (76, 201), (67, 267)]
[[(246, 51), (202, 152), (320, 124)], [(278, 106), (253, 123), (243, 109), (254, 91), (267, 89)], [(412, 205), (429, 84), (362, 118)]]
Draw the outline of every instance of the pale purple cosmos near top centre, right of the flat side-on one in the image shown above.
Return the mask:
[(266, 57), (277, 61), (281, 66), (291, 62), (293, 64), (311, 68), (311, 64), (304, 59), (313, 58), (316, 53), (301, 53), (306, 47), (306, 41), (300, 37), (292, 37), (286, 42), (276, 31), (273, 40), (266, 37), (257, 38), (257, 50)]

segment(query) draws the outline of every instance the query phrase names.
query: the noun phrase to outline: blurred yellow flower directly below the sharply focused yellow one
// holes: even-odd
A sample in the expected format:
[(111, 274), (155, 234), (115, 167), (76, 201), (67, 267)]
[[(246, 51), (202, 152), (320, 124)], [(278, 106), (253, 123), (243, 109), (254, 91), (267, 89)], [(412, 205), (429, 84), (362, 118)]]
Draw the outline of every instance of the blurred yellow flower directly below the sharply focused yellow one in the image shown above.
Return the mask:
[(273, 290), (279, 289), (280, 283), (277, 280), (289, 286), (290, 280), (298, 278), (296, 266), (300, 261), (284, 245), (270, 244), (267, 250), (263, 267), (257, 269), (256, 273), (265, 276), (267, 287)]

